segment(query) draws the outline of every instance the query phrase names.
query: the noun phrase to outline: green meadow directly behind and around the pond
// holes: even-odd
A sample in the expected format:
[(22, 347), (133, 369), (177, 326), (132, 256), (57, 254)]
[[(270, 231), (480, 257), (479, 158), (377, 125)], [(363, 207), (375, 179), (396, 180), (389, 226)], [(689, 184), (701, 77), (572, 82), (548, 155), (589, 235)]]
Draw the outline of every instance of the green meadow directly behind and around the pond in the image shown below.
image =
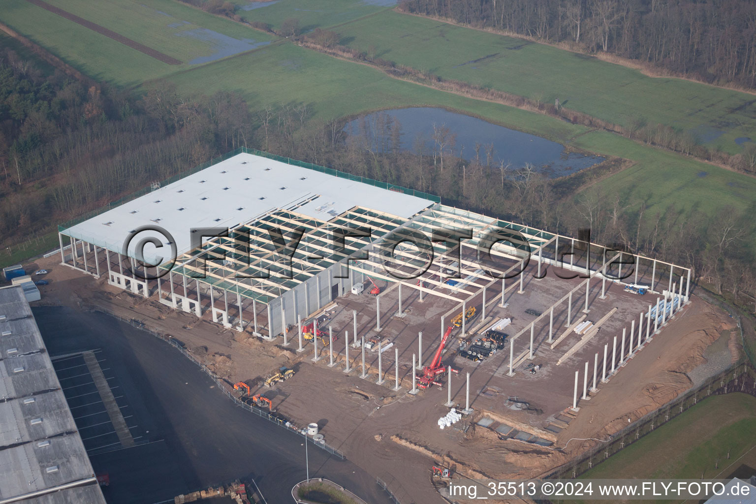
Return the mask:
[(708, 215), (727, 205), (745, 209), (756, 193), (756, 179), (747, 175), (637, 144), (620, 135), (589, 131), (549, 116), (392, 79), (369, 66), (290, 43), (197, 67), (169, 80), (191, 93), (240, 91), (253, 110), (266, 105), (307, 104), (313, 119), (321, 121), (384, 108), (447, 107), (562, 144), (632, 159), (636, 162), (633, 167), (596, 186), (606, 194), (620, 193), (628, 202), (645, 201), (646, 212), (650, 212), (646, 215), (665, 212), (669, 206), (677, 212), (695, 208)]

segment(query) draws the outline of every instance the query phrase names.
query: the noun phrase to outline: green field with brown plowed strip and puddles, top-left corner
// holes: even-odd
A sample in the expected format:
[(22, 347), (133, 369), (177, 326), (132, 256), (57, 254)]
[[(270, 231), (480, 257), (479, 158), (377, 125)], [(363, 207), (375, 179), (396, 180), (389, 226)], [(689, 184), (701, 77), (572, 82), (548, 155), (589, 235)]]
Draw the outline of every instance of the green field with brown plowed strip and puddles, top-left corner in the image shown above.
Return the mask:
[(5, 2), (0, 21), (82, 73), (119, 85), (137, 85), (182, 68), (249, 51), (273, 39), (172, 0), (48, 3), (183, 62), (163, 63), (26, 0)]

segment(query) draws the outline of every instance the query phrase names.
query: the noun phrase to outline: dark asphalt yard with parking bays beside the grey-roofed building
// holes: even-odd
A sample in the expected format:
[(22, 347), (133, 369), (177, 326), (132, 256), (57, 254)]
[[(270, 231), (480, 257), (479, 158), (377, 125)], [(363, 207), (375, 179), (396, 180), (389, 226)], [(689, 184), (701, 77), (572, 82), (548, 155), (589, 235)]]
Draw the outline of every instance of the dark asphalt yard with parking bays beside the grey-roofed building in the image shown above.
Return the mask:
[[(293, 502), (291, 488), (305, 479), (305, 447), (297, 434), (236, 407), (196, 364), (147, 332), (70, 308), (40, 307), (34, 314), (51, 356), (99, 349), (98, 360), (129, 417), (127, 424), (140, 436), (135, 447), (90, 445), (99, 447), (90, 455), (95, 472), (110, 474), (110, 487), (104, 488), (110, 504), (172, 502), (179, 493), (250, 477), (269, 504)], [(56, 367), (67, 367), (64, 362)], [(85, 391), (69, 392), (73, 397)], [(96, 400), (69, 399), (71, 406)], [(92, 422), (84, 418), (77, 420), (80, 429), (88, 424), (79, 422)], [(113, 443), (110, 426), (101, 422), (98, 433)], [(308, 460), (311, 478), (328, 478), (367, 502), (391, 502), (375, 478), (349, 460), (311, 444)]]

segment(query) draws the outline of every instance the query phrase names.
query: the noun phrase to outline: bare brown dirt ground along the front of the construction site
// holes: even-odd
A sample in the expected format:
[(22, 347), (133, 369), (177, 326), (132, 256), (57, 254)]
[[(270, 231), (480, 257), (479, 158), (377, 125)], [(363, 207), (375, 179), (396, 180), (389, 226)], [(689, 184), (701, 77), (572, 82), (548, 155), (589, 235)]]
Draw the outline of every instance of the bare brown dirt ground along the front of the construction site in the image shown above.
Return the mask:
[[(582, 368), (583, 360), (586, 360), (584, 355), (578, 355), (575, 361), (559, 366), (566, 366), (564, 371), (556, 369), (552, 363), (544, 365), (544, 369), (551, 369), (550, 373), (532, 376), (519, 369), (514, 377), (497, 373), (496, 370), (493, 374), (486, 372), (485, 366), (494, 366), (490, 358), (482, 363), (461, 360), (463, 372), (472, 371), (474, 376), (479, 376), (477, 380), (471, 379), (471, 406), (475, 412), (453, 427), (442, 430), (438, 428), (437, 420), (448, 413), (448, 407), (444, 406), (448, 391), (434, 387), (417, 395), (409, 394), (411, 354), (407, 360), (406, 350), (410, 346), (417, 348), (414, 342), (417, 336), (410, 337), (416, 334), (416, 324), (423, 321), (432, 323), (434, 336), (424, 342), (428, 350), (423, 351), (428, 362), (431, 352), (435, 350), (432, 342), (440, 337), (435, 335), (439, 330), (438, 314), (421, 316), (420, 308), (413, 308), (417, 320), (412, 317), (409, 320), (408, 317), (398, 320), (396, 317), (386, 317), (390, 320), (382, 320), (386, 324), (383, 332), (398, 334), (401, 331), (392, 329), (396, 324), (409, 326), (403, 333), (405, 339), (395, 339), (401, 352), (398, 365), (401, 388), (394, 391), (396, 366), (393, 351), (383, 354), (386, 382), (376, 385), (376, 354), (368, 352), (370, 371), (366, 379), (361, 379), (361, 355), (358, 350), (350, 349), (353, 367), (350, 373), (345, 373), (343, 355), (333, 368), (328, 366), (327, 352), (317, 363), (312, 362), (311, 342), (305, 351), (297, 353), (296, 341), (283, 347), (280, 338), (275, 342), (265, 342), (251, 337), (248, 332), (223, 329), (208, 320), (160, 305), (154, 297), (145, 299), (108, 286), (105, 277), (95, 279), (61, 266), (59, 260), (53, 256), (26, 266), (27, 271), (45, 268), (50, 272), (45, 276), (50, 284), (40, 287), (42, 301), (38, 303), (68, 305), (79, 310), (103, 309), (120, 317), (141, 320), (157, 332), (181, 339), (218, 376), (229, 383), (245, 381), (252, 387), (253, 393), (265, 393), (273, 401), (273, 407), (293, 419), (297, 425), (318, 422), (328, 444), (341, 450), (370, 474), (386, 481), (402, 502), (406, 499), (406, 502), (417, 504), (441, 502), (430, 478), (429, 470), (434, 464), (451, 468), (457, 475), (465, 477), (532, 478), (578, 456), (596, 444), (591, 438), (607, 439), (627, 425), (627, 419), (637, 419), (690, 388), (692, 381), (686, 373), (702, 366), (706, 361), (706, 348), (719, 339), (725, 329), (733, 327), (733, 320), (727, 314), (692, 297), (691, 303), (675, 314), (674, 320), (651, 342), (646, 343), (642, 351), (627, 360), (609, 382), (600, 384), (598, 391), (590, 394), (589, 400), (580, 401), (578, 413), (567, 411), (572, 406), (572, 377), (567, 379), (566, 384), (562, 382), (565, 381), (563, 376), (572, 376), (575, 369)], [(550, 288), (544, 283), (540, 284), (538, 291), (544, 296), (541, 304), (547, 305), (550, 302)], [(620, 295), (615, 293), (615, 301)], [(628, 313), (637, 313), (635, 310), (638, 307), (632, 305), (635, 299), (629, 301)], [(519, 311), (535, 301), (526, 294), (513, 293), (507, 302), (510, 303), (510, 313), (514, 313), (515, 325)], [(342, 325), (351, 326), (352, 307), (359, 308), (358, 305), (363, 305), (360, 317), (367, 317), (367, 320), (360, 320), (360, 326), (369, 326), (367, 306), (371, 303), (374, 305), (374, 298), (370, 295), (337, 298), (332, 320), (339, 327), (339, 332)], [(536, 303), (538, 306), (541, 304)], [(430, 305), (430, 301), (410, 306), (424, 305)], [(591, 305), (590, 317), (596, 319), (603, 315), (610, 305), (612, 303), (606, 306)], [(443, 313), (445, 308), (438, 305), (423, 309)], [(612, 329), (612, 333), (615, 333), (615, 329)], [(107, 338), (107, 335), (103, 337)], [(296, 332), (293, 339), (296, 340)], [(564, 351), (574, 341), (575, 337), (571, 336), (562, 343), (565, 346), (557, 347), (557, 350)], [(725, 348), (731, 352), (734, 360), (737, 349), (734, 340), (731, 343), (729, 349)], [(343, 345), (344, 339), (339, 339), (333, 346), (340, 348), (339, 354), (342, 354)], [(593, 359), (596, 348), (588, 351)], [(447, 358), (451, 357), (451, 352), (449, 354)], [(500, 354), (507, 354), (508, 363), (508, 348), (500, 351)], [(494, 357), (498, 359), (501, 356), (495, 354)], [(459, 358), (454, 362), (457, 366)], [(262, 379), (279, 366), (293, 367), (296, 376), (274, 388), (262, 386)], [(464, 373), (460, 373), (459, 377), (452, 377), (453, 400), (462, 407), (465, 400), (463, 376)], [(563, 389), (567, 390), (566, 395)], [(512, 395), (522, 397), (538, 411), (516, 411), (506, 407), (504, 402)], [(478, 424), (483, 419), (487, 421), (482, 423), (488, 425)], [(552, 444), (545, 447), (507, 438), (500, 434), (501, 431), (494, 430), (501, 425), (534, 434)], [(550, 431), (548, 425), (560, 425), (561, 430)]]

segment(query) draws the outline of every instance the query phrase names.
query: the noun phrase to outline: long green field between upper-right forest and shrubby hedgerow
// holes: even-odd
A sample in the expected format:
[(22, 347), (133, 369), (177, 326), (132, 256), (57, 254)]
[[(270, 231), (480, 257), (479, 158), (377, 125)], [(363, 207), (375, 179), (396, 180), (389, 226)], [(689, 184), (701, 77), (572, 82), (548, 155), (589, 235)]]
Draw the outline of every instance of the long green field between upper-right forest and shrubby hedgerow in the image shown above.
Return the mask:
[(384, 11), (339, 26), (342, 44), (359, 51), (458, 79), (553, 103), (629, 125), (649, 123), (691, 131), (704, 143), (740, 152), (736, 138), (756, 138), (756, 100), (751, 94), (659, 79), (522, 39)]

